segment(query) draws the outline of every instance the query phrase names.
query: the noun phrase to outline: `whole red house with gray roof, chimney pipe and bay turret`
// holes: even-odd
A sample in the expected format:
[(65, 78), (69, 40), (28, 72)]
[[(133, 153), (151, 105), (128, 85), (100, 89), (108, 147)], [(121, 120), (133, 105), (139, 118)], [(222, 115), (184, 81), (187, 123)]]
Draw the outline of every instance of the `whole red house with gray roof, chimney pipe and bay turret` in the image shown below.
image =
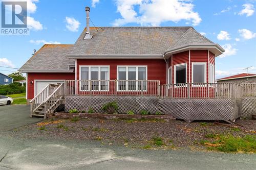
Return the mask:
[[(41, 105), (51, 94), (46, 86), (57, 83), (65, 83), (67, 96), (216, 96), (219, 44), (192, 27), (90, 27), (86, 11), (87, 27), (75, 44), (45, 44), (19, 69), (27, 73), (28, 101), (40, 95)], [(38, 104), (33, 110), (40, 112)]]

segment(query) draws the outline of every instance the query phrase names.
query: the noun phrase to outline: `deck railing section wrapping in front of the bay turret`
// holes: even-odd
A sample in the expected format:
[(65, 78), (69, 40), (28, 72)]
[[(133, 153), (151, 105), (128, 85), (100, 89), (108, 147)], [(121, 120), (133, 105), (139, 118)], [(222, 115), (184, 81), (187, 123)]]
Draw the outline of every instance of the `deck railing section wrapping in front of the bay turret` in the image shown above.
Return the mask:
[(234, 83), (182, 83), (160, 85), (160, 98), (242, 99), (242, 86)]

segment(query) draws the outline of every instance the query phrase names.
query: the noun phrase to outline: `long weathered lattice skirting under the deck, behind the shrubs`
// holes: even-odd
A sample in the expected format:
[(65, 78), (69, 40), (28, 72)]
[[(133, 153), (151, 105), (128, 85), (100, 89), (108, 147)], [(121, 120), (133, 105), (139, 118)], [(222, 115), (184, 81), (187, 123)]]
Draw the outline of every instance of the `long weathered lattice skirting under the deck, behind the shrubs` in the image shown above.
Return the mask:
[(145, 109), (151, 114), (157, 111), (185, 120), (233, 120), (241, 116), (242, 101), (233, 99), (159, 99), (148, 96), (65, 96), (65, 112), (92, 107), (95, 113), (106, 103), (116, 101), (118, 113)]

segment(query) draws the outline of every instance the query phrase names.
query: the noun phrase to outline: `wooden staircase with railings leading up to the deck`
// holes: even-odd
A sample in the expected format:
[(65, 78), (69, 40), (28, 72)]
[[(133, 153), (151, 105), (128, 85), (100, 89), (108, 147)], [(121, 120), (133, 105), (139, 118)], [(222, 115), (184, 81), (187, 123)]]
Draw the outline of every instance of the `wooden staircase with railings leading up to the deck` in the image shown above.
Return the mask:
[(30, 117), (47, 118), (63, 103), (63, 84), (49, 84), (30, 101)]

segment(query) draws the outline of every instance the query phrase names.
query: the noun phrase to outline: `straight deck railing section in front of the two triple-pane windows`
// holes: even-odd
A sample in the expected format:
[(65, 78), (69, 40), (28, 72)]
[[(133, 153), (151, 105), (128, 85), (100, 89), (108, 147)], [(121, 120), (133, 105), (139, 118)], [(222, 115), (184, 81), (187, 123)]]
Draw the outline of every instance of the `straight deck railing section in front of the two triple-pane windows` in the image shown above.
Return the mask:
[(157, 80), (66, 80), (65, 95), (159, 95)]

